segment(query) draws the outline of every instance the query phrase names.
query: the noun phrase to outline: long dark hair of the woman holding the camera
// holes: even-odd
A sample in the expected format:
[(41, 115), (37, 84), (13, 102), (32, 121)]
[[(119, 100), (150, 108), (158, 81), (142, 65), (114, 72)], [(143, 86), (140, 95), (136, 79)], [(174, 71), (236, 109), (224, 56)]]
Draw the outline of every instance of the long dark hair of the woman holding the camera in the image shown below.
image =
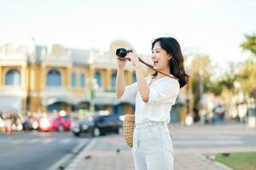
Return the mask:
[[(172, 55), (172, 59), (169, 61), (170, 71), (174, 77), (179, 79), (178, 82), (180, 88), (183, 88), (183, 86), (189, 82), (189, 76), (185, 73), (183, 66), (184, 59), (179, 43), (173, 37), (159, 37), (154, 39), (152, 42), (152, 49), (154, 48), (154, 44), (156, 42), (160, 42), (160, 47), (166, 50), (167, 54)], [(156, 75), (157, 72), (153, 74), (153, 76)]]

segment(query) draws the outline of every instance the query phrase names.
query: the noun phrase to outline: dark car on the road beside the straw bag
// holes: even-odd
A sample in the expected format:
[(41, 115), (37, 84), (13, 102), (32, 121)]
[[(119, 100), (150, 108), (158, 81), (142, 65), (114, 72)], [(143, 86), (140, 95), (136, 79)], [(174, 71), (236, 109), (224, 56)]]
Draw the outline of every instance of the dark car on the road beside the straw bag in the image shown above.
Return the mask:
[(71, 129), (75, 136), (81, 133), (100, 136), (106, 133), (122, 133), (123, 122), (117, 115), (95, 115), (73, 122)]

